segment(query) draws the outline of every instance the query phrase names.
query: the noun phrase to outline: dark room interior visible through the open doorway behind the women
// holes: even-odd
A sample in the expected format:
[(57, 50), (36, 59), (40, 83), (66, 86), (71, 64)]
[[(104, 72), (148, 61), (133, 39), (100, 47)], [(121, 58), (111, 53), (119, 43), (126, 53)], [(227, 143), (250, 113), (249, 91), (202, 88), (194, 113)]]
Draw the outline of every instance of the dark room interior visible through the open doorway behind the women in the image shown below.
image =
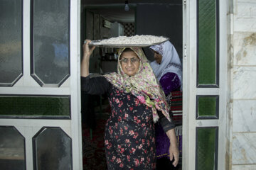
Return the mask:
[[(182, 1), (81, 1), (81, 41), (101, 40), (117, 36), (161, 35), (169, 38), (182, 62)], [(81, 48), (82, 49), (82, 48)], [(116, 48), (96, 47), (90, 58), (90, 77), (117, 72)], [(146, 57), (154, 61), (149, 47)], [(82, 53), (81, 53), (82, 54)], [(107, 96), (82, 94), (82, 155), (84, 169), (107, 169), (104, 150), (104, 129), (110, 116)], [(176, 136), (182, 165), (182, 91), (172, 92), (171, 111), (176, 121)], [(178, 128), (177, 128), (178, 127)], [(174, 169), (164, 160), (165, 169)], [(159, 169), (161, 169), (159, 167)]]

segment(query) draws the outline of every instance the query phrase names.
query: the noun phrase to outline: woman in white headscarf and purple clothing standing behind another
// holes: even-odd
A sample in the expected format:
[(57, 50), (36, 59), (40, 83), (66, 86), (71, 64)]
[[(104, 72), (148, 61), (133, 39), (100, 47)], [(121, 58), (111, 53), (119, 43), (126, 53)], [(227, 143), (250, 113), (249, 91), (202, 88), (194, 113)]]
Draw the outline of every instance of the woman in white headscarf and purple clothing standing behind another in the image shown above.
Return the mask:
[[(167, 102), (170, 104), (171, 91), (182, 89), (182, 66), (178, 53), (171, 42), (166, 41), (160, 45), (149, 47), (154, 52), (154, 62), (151, 62), (151, 67), (159, 80)], [(169, 156), (169, 138), (164, 133), (159, 123), (155, 126), (156, 130), (156, 168), (161, 169), (161, 166), (166, 166), (169, 162), (164, 157)]]

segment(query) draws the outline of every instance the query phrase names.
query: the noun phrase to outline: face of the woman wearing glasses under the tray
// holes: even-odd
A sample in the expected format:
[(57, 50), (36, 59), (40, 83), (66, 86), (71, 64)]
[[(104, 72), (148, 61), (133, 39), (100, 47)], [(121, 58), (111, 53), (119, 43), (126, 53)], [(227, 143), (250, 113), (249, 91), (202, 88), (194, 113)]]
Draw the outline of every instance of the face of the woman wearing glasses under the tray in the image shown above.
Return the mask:
[(121, 67), (125, 74), (134, 76), (139, 70), (139, 57), (133, 51), (122, 52)]

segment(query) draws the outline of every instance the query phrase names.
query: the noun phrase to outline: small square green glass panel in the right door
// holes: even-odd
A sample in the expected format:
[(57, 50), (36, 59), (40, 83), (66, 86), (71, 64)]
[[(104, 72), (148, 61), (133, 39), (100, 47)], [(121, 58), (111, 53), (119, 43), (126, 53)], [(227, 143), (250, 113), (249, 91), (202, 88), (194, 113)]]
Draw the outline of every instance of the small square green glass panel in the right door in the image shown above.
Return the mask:
[(218, 96), (197, 96), (196, 118), (218, 118)]

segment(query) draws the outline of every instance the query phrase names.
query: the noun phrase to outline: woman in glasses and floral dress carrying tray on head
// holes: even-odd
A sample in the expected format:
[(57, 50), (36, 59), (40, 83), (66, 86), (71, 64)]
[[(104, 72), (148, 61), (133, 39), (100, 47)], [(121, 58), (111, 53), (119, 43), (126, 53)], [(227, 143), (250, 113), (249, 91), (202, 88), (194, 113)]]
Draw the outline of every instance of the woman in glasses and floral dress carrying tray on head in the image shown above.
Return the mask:
[[(178, 164), (178, 148), (164, 93), (141, 48), (119, 50), (118, 73), (89, 78), (89, 59), (95, 47), (83, 45), (81, 88), (88, 94), (107, 94), (112, 115), (105, 128), (108, 169), (154, 169), (153, 122), (163, 125), (171, 143), (170, 159)], [(157, 112), (159, 111), (159, 112)]]

